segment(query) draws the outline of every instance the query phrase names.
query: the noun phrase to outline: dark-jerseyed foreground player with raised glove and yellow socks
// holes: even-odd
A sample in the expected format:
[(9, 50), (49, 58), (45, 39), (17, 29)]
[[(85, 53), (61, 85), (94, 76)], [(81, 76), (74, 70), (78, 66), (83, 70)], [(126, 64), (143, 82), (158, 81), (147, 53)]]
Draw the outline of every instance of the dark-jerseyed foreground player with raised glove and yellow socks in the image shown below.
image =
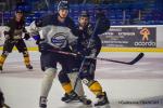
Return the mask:
[[(95, 70), (96, 70), (96, 59), (95, 57), (98, 56), (100, 50), (101, 50), (101, 40), (99, 39), (98, 35), (103, 33), (110, 28), (110, 22), (106, 19), (103, 12), (98, 11), (97, 12), (97, 19), (100, 19), (99, 25), (96, 29), (95, 36), (91, 37), (93, 32), (93, 28), (89, 23), (89, 14), (87, 11), (83, 11), (79, 16), (79, 25), (78, 29), (80, 30), (80, 35), (78, 38), (78, 44), (77, 44), (77, 53), (82, 56), (87, 57), (87, 59), (84, 63), (84, 66), (82, 67), (82, 71), (79, 71), (79, 78), (82, 79), (83, 83), (85, 83), (88, 89), (97, 96), (98, 102), (95, 104), (95, 106), (103, 106), (108, 105), (108, 96), (106, 93), (102, 91), (101, 84), (95, 80)], [(90, 45), (88, 48), (88, 43), (90, 41)], [(83, 57), (79, 57), (77, 62), (75, 63), (76, 68), (80, 68), (80, 65), (83, 63)], [(64, 75), (65, 76), (65, 75)], [(61, 78), (63, 78), (63, 75), (59, 75), (60, 82), (63, 83)], [(76, 79), (76, 78), (75, 78)], [(65, 84), (65, 83), (64, 83)], [(76, 87), (76, 86), (74, 86)], [(71, 89), (67, 86), (67, 90)], [(68, 96), (64, 97), (65, 102), (68, 100)]]

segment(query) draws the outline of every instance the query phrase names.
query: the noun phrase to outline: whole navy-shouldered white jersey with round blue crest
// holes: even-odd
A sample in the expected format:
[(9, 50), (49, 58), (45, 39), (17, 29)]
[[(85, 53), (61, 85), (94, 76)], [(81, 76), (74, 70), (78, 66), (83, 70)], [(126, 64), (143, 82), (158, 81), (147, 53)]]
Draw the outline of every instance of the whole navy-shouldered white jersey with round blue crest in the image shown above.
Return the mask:
[(41, 43), (47, 43), (59, 50), (72, 45), (77, 40), (77, 28), (74, 22), (70, 17), (66, 17), (64, 23), (60, 23), (58, 14), (41, 18), (39, 24), (32, 23), (28, 31), (35, 35), (39, 32), (40, 39), (43, 40)]

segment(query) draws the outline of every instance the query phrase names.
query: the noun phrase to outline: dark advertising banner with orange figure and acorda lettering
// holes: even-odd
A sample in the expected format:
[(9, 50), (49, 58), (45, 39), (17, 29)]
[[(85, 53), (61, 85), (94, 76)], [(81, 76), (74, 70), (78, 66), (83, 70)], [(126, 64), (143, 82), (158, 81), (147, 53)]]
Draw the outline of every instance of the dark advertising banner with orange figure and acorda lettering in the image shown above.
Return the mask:
[(156, 27), (112, 27), (100, 38), (103, 46), (156, 48)]

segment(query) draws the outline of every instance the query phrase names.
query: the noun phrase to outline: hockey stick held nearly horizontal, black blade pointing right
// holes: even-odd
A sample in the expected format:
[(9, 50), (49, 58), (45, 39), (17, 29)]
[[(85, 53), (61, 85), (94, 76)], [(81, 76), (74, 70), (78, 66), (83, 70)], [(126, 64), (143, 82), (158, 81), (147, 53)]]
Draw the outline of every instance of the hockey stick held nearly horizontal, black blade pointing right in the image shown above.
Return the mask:
[[(64, 54), (64, 55), (72, 55), (74, 57), (77, 57), (76, 53), (70, 53), (70, 52), (63, 52), (63, 51), (51, 51), (51, 52), (55, 52), (55, 53), (60, 53), (60, 54)], [(135, 65), (136, 63), (138, 63), (142, 57), (145, 56), (143, 53), (139, 53), (133, 60), (130, 62), (122, 62), (122, 60), (114, 60), (114, 59), (109, 59), (109, 58), (103, 58), (103, 57), (96, 57), (92, 59), (99, 59), (99, 60), (104, 60), (104, 62), (113, 62), (113, 63), (120, 63), (120, 64), (126, 64), (126, 65)], [(87, 56), (85, 56), (86, 58), (89, 58)]]

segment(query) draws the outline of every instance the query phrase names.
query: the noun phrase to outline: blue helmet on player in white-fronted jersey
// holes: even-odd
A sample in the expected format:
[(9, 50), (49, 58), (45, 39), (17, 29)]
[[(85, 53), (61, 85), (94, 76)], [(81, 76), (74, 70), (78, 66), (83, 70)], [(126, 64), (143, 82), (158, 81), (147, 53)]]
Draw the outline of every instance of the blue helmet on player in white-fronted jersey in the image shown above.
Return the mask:
[(68, 1), (61, 0), (58, 4), (58, 11), (60, 11), (60, 10), (70, 10)]

